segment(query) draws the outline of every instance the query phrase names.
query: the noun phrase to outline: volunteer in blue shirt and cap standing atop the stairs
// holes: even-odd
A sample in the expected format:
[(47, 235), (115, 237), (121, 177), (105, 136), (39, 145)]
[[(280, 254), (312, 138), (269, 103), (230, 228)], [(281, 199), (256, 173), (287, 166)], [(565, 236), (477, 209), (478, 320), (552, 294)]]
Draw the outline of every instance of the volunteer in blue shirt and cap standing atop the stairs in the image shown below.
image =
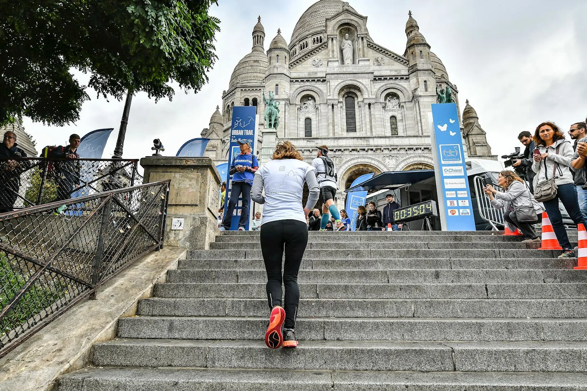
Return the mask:
[(230, 189), (230, 200), (228, 200), (227, 213), (224, 215), (221, 231), (230, 230), (232, 213), (237, 206), (238, 197), (242, 194), (241, 218), (238, 221), (238, 230), (244, 231), (249, 219), (249, 203), (251, 203), (251, 186), (255, 178), (255, 172), (259, 168), (257, 157), (251, 153), (251, 144), (247, 140), (238, 140), (241, 153), (236, 155), (230, 166), (232, 175), (232, 187)]

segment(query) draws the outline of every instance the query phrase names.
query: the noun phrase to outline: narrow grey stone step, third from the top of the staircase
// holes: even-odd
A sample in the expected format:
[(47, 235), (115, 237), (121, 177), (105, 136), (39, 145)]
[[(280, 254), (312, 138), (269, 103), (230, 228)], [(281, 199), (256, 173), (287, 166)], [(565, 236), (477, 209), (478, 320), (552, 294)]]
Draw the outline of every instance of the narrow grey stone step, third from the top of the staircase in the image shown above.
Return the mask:
[[(261, 243), (259, 242), (248, 242), (248, 243), (210, 243), (211, 250), (234, 250), (236, 248), (246, 248), (247, 250), (259, 250), (261, 249)], [(347, 249), (363, 249), (368, 248), (371, 250), (395, 250), (395, 249), (411, 249), (411, 250), (436, 250), (436, 249), (538, 249), (540, 243), (519, 243), (519, 242), (400, 242), (394, 240), (393, 242), (371, 242), (371, 243), (356, 243), (353, 241), (349, 242), (309, 242), (306, 246), (306, 250), (333, 250), (333, 253), (339, 250)]]

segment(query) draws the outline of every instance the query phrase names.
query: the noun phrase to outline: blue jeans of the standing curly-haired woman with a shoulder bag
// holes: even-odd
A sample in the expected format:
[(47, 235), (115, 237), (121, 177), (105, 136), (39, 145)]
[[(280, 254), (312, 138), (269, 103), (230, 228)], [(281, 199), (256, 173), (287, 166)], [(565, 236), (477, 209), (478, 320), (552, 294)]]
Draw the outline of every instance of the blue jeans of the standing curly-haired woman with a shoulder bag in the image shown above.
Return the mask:
[(544, 208), (546, 208), (546, 213), (548, 213), (548, 217), (551, 220), (552, 229), (554, 229), (558, 243), (563, 250), (572, 250), (569, 237), (566, 236), (565, 226), (562, 224), (561, 210), (558, 209), (559, 199), (575, 224), (585, 224), (585, 218), (581, 213), (581, 209), (579, 209), (575, 184), (567, 183), (566, 185), (558, 185), (558, 193), (556, 194), (556, 197), (544, 202)]

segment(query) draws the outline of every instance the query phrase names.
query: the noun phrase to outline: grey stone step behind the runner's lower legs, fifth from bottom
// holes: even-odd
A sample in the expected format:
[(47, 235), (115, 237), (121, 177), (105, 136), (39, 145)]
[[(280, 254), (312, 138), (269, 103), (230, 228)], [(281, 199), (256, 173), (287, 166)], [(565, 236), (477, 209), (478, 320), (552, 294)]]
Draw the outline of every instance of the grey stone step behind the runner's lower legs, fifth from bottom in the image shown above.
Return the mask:
[[(299, 284), (302, 298), (587, 298), (587, 284)], [(265, 283), (156, 284), (161, 298), (263, 298)]]

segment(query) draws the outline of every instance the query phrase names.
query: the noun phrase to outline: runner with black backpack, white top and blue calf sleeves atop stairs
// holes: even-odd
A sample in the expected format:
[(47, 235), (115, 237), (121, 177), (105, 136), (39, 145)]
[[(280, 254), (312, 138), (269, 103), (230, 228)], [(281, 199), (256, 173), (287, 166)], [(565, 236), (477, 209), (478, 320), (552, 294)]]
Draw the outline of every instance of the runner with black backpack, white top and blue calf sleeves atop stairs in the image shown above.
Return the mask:
[(316, 168), (316, 178), (318, 179), (318, 185), (320, 185), (320, 199), (318, 201), (319, 205), (322, 205), (320, 230), (323, 231), (326, 229), (326, 225), (328, 225), (330, 220), (330, 212), (335, 219), (335, 226), (333, 229), (339, 231), (343, 229), (345, 225), (340, 220), (340, 213), (338, 212), (336, 205), (334, 205), (334, 198), (336, 196), (336, 190), (338, 189), (338, 185), (336, 185), (338, 175), (336, 175), (334, 162), (327, 156), (328, 147), (326, 147), (326, 145), (321, 145), (316, 148), (318, 148), (318, 154), (316, 154), (316, 158), (313, 159), (312, 166)]

